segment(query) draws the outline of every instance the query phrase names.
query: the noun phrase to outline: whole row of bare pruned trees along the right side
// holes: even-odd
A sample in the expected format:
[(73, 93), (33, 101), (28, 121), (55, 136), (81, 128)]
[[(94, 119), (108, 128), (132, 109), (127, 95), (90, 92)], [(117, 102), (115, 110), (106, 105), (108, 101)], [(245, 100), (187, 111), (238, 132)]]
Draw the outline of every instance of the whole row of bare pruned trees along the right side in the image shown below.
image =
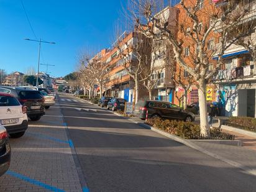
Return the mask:
[[(162, 0), (129, 1), (126, 16), (133, 21), (132, 30), (135, 26), (136, 42), (129, 44), (117, 38), (114, 48), (117, 50), (116, 57), (124, 61), (124, 70), (134, 80), (135, 103), (139, 98), (140, 84), (149, 90), (151, 99), (152, 89), (158, 81), (152, 76), (157, 74), (158, 77), (163, 68), (169, 68), (176, 86), (185, 90), (185, 107), (188, 89), (192, 85), (198, 86), (201, 134), (209, 134), (206, 85), (221, 70), (224, 65), (222, 56), (231, 45), (247, 48), (255, 62), (255, 24), (243, 22), (250, 11), (248, 1), (229, 0), (222, 6), (211, 4), (205, 8), (202, 2), (181, 0), (177, 6), (179, 10), (170, 8), (173, 11), (171, 14), (179, 12), (180, 16), (170, 19), (170, 12), (162, 11)], [(211, 41), (216, 42), (216, 39), (217, 45), (211, 46)], [(155, 62), (162, 57), (160, 47), (165, 47), (166, 64), (157, 68)], [(212, 59), (214, 55), (217, 56), (216, 62)], [(103, 87), (109, 82), (110, 71), (111, 66), (101, 57), (80, 55), (78, 79), (85, 89), (89, 89), (89, 95), (97, 84), (102, 96)], [(184, 71), (188, 76), (181, 75)]]

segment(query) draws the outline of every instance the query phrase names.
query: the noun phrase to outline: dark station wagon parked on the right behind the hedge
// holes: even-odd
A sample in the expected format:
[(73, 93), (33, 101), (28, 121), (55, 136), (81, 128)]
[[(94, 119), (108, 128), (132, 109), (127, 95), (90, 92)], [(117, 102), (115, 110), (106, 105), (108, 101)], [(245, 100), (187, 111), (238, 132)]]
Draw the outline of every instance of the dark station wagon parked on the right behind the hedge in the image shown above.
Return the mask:
[[(148, 114), (147, 114), (148, 112)], [(134, 115), (140, 119), (161, 117), (166, 119), (178, 119), (182, 121), (194, 121), (194, 114), (184, 111), (176, 104), (165, 101), (138, 101), (135, 104)]]

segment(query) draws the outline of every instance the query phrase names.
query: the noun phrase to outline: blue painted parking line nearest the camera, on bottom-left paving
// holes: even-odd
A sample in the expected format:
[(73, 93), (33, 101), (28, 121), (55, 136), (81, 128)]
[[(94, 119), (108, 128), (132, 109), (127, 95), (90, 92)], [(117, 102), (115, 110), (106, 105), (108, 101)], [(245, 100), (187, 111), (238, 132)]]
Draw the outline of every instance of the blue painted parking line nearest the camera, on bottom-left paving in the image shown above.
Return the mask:
[(24, 180), (24, 181), (27, 181), (28, 183), (31, 183), (32, 185), (41, 186), (42, 188), (45, 188), (45, 189), (50, 190), (50, 191), (65, 192), (64, 190), (60, 190), (60, 189), (56, 188), (55, 186), (50, 186), (50, 185), (47, 185), (47, 184), (42, 183), (40, 181), (33, 180), (33, 179), (31, 179), (27, 176), (21, 175), (19, 173), (14, 172), (14, 171), (9, 170), (9, 171), (6, 172), (6, 174), (14, 176), (14, 177), (19, 178), (19, 179)]

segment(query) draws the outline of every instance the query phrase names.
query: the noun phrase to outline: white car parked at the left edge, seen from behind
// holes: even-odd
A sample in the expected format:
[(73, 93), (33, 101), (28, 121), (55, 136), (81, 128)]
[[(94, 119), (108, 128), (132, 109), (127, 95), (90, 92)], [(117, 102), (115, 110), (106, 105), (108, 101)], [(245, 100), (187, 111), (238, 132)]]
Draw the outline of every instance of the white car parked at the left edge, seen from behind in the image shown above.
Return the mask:
[(27, 107), (22, 106), (11, 94), (0, 93), (0, 124), (13, 138), (24, 135), (28, 127)]

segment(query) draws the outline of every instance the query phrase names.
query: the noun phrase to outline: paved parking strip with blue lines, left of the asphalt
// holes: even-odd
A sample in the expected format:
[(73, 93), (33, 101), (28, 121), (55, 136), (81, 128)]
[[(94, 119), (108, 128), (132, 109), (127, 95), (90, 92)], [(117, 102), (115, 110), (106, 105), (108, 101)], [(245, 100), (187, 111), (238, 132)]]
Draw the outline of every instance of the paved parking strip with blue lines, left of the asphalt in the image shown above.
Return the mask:
[(11, 167), (1, 176), (0, 191), (82, 191), (62, 118), (51, 117), (61, 116), (60, 109), (46, 114), (30, 121), (23, 137), (10, 139)]

